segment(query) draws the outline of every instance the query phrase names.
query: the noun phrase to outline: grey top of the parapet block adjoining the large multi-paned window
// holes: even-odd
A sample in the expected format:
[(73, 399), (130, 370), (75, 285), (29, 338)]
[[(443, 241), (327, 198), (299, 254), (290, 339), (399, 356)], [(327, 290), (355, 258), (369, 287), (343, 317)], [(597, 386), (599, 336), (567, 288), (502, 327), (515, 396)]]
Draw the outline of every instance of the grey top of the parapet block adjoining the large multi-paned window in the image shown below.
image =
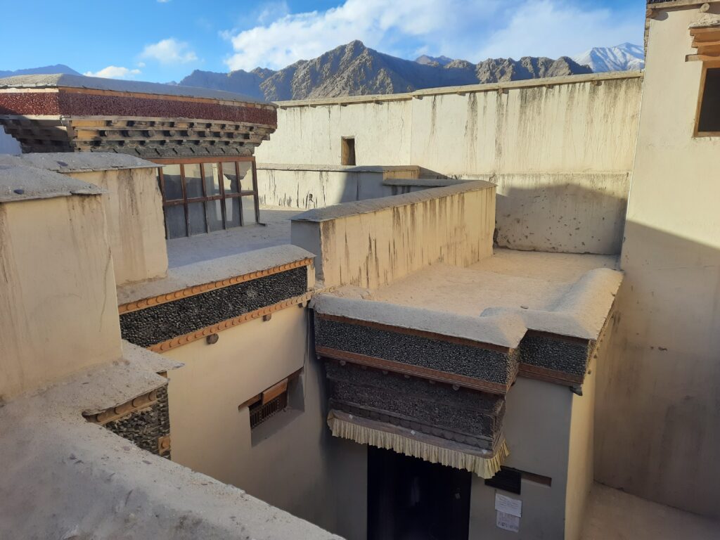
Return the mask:
[(60, 173), (110, 171), (114, 168), (156, 168), (156, 163), (114, 152), (48, 152), (19, 156), (0, 154), (0, 164), (25, 165)]

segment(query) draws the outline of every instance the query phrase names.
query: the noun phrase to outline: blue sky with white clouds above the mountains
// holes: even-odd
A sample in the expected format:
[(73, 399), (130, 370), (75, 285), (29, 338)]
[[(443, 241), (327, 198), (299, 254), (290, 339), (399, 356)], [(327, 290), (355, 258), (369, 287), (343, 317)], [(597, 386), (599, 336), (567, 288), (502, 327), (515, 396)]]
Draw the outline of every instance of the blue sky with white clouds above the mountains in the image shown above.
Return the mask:
[(642, 44), (644, 0), (4, 0), (0, 69), (179, 81), (282, 68), (354, 39), (402, 58), (576, 55)]

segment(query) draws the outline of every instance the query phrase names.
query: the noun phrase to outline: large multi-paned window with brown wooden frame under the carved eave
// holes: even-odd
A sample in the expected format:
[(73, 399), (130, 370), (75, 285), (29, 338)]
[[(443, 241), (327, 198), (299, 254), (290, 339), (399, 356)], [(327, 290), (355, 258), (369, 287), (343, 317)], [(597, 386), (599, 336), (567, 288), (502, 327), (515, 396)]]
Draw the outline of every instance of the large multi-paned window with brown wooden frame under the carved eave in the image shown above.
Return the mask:
[(166, 237), (179, 238), (258, 222), (251, 157), (153, 160), (163, 194)]

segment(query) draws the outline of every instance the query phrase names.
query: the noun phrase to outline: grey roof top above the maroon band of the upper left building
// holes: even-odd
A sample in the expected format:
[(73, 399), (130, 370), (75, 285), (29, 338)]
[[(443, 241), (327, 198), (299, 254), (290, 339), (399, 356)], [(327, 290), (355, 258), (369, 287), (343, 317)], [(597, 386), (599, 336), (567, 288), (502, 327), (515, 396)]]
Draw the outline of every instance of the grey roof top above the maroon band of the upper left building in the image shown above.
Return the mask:
[(58, 86), (135, 92), (138, 94), (158, 94), (162, 96), (202, 97), (222, 99), (222, 101), (226, 102), (262, 103), (274, 106), (274, 104), (269, 102), (261, 102), (258, 99), (243, 96), (242, 94), (197, 88), (195, 86), (176, 86), (144, 81), (120, 81), (114, 78), (86, 77), (82, 75), (68, 75), (67, 73), (57, 73), (55, 75), (17, 75), (14, 77), (0, 78), (0, 88), (56, 88)]

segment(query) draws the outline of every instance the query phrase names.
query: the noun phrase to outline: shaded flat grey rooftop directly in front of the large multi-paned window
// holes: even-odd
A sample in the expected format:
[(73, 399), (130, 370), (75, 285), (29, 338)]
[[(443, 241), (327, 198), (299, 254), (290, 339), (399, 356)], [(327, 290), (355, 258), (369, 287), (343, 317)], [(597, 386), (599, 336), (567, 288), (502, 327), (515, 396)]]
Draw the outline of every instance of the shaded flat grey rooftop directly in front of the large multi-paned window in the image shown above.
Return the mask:
[[(245, 209), (247, 216), (251, 209)], [(264, 225), (250, 223), (243, 227), (218, 230), (215, 233), (168, 240), (168, 266), (175, 268), (213, 258), (237, 255), (256, 249), (290, 243), (290, 220), (303, 210), (261, 207), (260, 220)]]

